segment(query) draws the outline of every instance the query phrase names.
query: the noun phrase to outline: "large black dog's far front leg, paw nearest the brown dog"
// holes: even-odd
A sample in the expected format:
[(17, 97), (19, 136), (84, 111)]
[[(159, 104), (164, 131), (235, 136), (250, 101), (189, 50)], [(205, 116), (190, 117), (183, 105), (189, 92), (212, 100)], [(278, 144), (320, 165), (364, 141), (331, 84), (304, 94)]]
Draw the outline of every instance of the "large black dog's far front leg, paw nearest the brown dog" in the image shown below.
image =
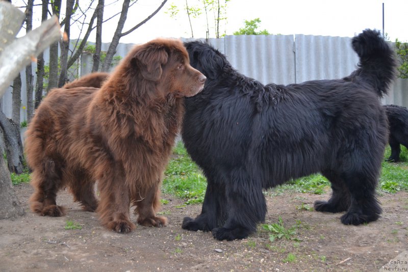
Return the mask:
[(224, 188), (208, 179), (206, 195), (202, 203), (201, 213), (195, 219), (184, 217), (182, 228), (185, 230), (211, 231), (220, 226), (222, 217), (225, 217), (225, 193)]

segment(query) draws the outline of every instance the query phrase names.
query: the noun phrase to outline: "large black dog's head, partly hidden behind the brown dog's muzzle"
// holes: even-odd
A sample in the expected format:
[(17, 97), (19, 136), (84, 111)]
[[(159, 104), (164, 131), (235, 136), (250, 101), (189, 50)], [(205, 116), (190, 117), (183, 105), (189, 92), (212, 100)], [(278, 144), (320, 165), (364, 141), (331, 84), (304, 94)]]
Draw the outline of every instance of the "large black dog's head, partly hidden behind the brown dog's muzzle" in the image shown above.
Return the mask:
[(191, 66), (209, 79), (216, 79), (230, 66), (225, 56), (208, 43), (192, 41), (185, 42), (184, 46), (187, 48)]

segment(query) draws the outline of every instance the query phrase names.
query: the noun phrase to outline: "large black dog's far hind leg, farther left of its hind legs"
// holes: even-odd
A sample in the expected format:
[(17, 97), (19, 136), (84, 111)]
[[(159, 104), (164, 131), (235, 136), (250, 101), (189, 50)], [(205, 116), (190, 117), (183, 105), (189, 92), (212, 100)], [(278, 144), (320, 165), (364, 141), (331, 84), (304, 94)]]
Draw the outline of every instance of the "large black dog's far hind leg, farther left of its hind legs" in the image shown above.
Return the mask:
[(333, 192), (328, 201), (315, 201), (315, 210), (326, 212), (342, 212), (348, 210), (351, 201), (350, 192), (344, 181), (334, 171), (322, 171), (322, 174), (330, 181)]

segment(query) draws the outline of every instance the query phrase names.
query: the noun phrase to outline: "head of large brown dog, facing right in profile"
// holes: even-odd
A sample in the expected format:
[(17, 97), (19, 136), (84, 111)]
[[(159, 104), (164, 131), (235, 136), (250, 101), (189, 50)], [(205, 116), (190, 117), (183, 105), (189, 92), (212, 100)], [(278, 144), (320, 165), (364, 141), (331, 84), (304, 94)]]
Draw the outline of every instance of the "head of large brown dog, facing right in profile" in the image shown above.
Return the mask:
[(151, 92), (194, 96), (206, 81), (206, 76), (191, 67), (183, 43), (175, 39), (156, 39), (136, 46), (121, 66), (124, 85), (148, 96), (153, 95)]

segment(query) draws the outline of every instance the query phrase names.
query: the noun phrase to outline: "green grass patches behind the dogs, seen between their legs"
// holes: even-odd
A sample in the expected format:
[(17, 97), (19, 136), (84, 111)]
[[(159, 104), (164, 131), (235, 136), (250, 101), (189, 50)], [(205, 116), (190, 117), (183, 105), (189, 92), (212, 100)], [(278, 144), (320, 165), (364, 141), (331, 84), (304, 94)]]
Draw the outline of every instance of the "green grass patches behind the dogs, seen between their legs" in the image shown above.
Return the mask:
[[(384, 158), (390, 156), (391, 150), (388, 146)], [(382, 171), (378, 189), (381, 192), (396, 193), (408, 191), (408, 150), (401, 146), (401, 161), (382, 163)], [(21, 175), (11, 174), (13, 185), (27, 183), (30, 174), (25, 172)], [(323, 194), (328, 192), (330, 183), (320, 174), (290, 180), (287, 183), (272, 189), (272, 194), (283, 194), (286, 192), (301, 192), (311, 194)], [(185, 204), (202, 203), (206, 193), (207, 181), (201, 170), (191, 160), (182, 142), (173, 149), (173, 157), (165, 171), (162, 191), (185, 200)], [(163, 204), (168, 201), (163, 200)], [(310, 207), (302, 205), (299, 209), (309, 210)]]

